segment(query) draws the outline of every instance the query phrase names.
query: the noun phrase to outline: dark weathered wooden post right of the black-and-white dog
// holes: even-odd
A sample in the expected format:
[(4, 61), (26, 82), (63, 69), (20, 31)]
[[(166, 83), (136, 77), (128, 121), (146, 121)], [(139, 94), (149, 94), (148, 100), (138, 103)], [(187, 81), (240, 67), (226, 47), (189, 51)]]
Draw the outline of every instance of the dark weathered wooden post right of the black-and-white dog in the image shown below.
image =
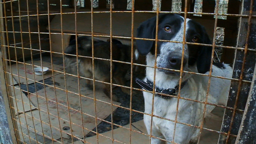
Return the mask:
[[(250, 0), (244, 1), (244, 7), (241, 8), (243, 10), (242, 14), (249, 14), (248, 11), (245, 11), (246, 9), (248, 10), (248, 7), (250, 7), (250, 3), (248, 3), (248, 1), (250, 2)], [(254, 6), (255, 5), (256, 5), (256, 3), (254, 2)], [(255, 12), (254, 12), (254, 14), (255, 14)], [(241, 21), (240, 21), (240, 27), (239, 27), (239, 33), (238, 33), (237, 47), (245, 47), (247, 28), (248, 28), (248, 18), (241, 18), (240, 20)], [(252, 19), (250, 36), (249, 36), (249, 41), (248, 41), (248, 48), (250, 48), (250, 49), (255, 49), (255, 46), (256, 46), (255, 32), (256, 32), (256, 21)], [(244, 51), (236, 50), (234, 67), (233, 67), (234, 71), (233, 71), (232, 78), (240, 79), (243, 59), (244, 59)], [(243, 72), (244, 72), (243, 80), (252, 81), (253, 71), (254, 71), (254, 67), (255, 67), (255, 59), (256, 59), (255, 52), (247, 51), (246, 61), (245, 61), (244, 70), (243, 70)], [(235, 107), (236, 96), (237, 96), (237, 91), (238, 91), (238, 84), (239, 84), (239, 82), (237, 82), (237, 81), (231, 81), (228, 103), (227, 103), (228, 107), (232, 107), (232, 108)], [(242, 82), (239, 97), (237, 99), (237, 108), (243, 109), (243, 110), (245, 109), (245, 105), (247, 102), (250, 87), (251, 87), (250, 83)], [(243, 113), (235, 111), (233, 124), (231, 125), (232, 115), (233, 115), (233, 110), (228, 110), (228, 109), (225, 110), (225, 116), (224, 116), (221, 131), (228, 132), (231, 127), (230, 133), (237, 135), (238, 130), (240, 128), (242, 118), (243, 118)], [(248, 132), (248, 131), (246, 131), (246, 132)], [(225, 144), (226, 139), (227, 139), (226, 135), (220, 134), (219, 144)], [(228, 144), (235, 143), (236, 139), (237, 139), (236, 137), (230, 136), (228, 139)]]

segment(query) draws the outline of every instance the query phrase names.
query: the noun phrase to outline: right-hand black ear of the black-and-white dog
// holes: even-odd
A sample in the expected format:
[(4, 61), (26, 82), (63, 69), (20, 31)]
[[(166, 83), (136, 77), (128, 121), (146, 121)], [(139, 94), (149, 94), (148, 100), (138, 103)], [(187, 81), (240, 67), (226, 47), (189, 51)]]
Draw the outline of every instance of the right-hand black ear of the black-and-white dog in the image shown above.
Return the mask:
[[(212, 44), (209, 36), (203, 28), (203, 44)], [(212, 58), (212, 46), (202, 46), (196, 61), (198, 73), (204, 74), (210, 70)]]

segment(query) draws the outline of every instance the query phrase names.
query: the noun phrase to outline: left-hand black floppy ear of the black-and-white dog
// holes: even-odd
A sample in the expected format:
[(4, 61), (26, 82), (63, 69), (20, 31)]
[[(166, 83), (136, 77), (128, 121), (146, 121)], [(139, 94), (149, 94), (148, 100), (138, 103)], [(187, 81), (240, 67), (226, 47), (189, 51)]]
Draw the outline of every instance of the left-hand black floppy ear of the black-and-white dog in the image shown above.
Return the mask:
[[(156, 17), (148, 19), (140, 24), (140, 27), (137, 29), (137, 37), (149, 39), (156, 38)], [(140, 54), (147, 55), (155, 44), (155, 41), (137, 39), (136, 44)]]

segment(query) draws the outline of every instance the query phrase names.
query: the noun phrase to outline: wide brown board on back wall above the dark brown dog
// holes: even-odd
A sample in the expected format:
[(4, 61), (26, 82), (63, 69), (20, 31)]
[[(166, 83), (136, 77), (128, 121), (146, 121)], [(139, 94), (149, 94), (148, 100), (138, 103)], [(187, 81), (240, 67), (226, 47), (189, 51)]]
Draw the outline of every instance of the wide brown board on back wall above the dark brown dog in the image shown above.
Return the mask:
[[(150, 2), (152, 4), (152, 2)], [(151, 9), (152, 10), (152, 9)], [(82, 10), (81, 10), (82, 11)], [(83, 10), (89, 11), (89, 10)], [(64, 12), (72, 12), (68, 9)], [(80, 12), (80, 11), (79, 11)], [(152, 13), (134, 13), (134, 36), (136, 36), (136, 28), (140, 23), (154, 17)], [(75, 31), (75, 14), (62, 15), (63, 31)], [(60, 31), (60, 15), (56, 15), (51, 21), (50, 30)], [(102, 26), (104, 24), (104, 27)], [(89, 32), (91, 34), (91, 14), (77, 14), (77, 31)], [(113, 13), (112, 14), (112, 34), (113, 36), (128, 36), (132, 33), (132, 13)], [(94, 13), (93, 14), (93, 32), (110, 34), (110, 14), (109, 13)]]

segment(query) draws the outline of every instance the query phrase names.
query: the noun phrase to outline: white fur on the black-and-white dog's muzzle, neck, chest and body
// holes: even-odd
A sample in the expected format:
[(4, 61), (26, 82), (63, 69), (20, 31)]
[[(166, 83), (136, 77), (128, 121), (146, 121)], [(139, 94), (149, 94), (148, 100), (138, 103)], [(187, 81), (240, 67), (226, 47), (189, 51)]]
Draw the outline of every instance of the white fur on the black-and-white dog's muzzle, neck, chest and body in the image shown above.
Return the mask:
[[(188, 21), (188, 20), (187, 20)], [(183, 24), (181, 24), (183, 25)], [(187, 26), (188, 28), (188, 26)], [(181, 28), (183, 29), (183, 28)], [(180, 30), (179, 34), (175, 36), (176, 41), (182, 41), (178, 39), (183, 36), (183, 31)], [(172, 39), (173, 40), (173, 39)], [(171, 43), (169, 43), (171, 44)], [(172, 43), (173, 44), (173, 43)], [(169, 47), (167, 44), (163, 44), (161, 47), (161, 51), (165, 51), (166, 49), (170, 48), (173, 49), (174, 47)], [(162, 49), (164, 48), (164, 49)], [(181, 46), (182, 48), (182, 46)], [(179, 49), (182, 51), (182, 49)], [(162, 54), (162, 52), (161, 52)], [(157, 57), (157, 63), (161, 63), (161, 54)], [(187, 46), (185, 46), (185, 54), (187, 52)], [(187, 56), (188, 57), (188, 56)], [(162, 57), (163, 58), (163, 57)], [(184, 56), (185, 58), (185, 56)], [(147, 55), (147, 65), (154, 66), (155, 63), (155, 56), (152, 54)], [(223, 76), (223, 77), (231, 77), (232, 68), (224, 64), (225, 68), (218, 68), (216, 66), (212, 66), (212, 76)], [(184, 70), (197, 72), (196, 65), (193, 67), (189, 67), (186, 65), (184, 66)], [(188, 83), (181, 89), (180, 97), (189, 98), (192, 100), (199, 100), (205, 101), (206, 100), (206, 93), (207, 93), (207, 86), (208, 86), (208, 76), (200, 76), (200, 75), (193, 75), (188, 73), (183, 73), (184, 76), (182, 80), (188, 79)], [(206, 74), (209, 74), (207, 72)], [(146, 69), (146, 78), (150, 81), (154, 81), (154, 68), (147, 67)], [(144, 79), (146, 81), (146, 78)], [(164, 72), (158, 71), (156, 69), (156, 86), (160, 89), (167, 89), (167, 88), (174, 88), (177, 84), (179, 84), (179, 76), (174, 75), (167, 75)], [(226, 105), (227, 98), (228, 98), (228, 91), (230, 86), (230, 80), (221, 79), (221, 78), (211, 78), (210, 84), (210, 92), (208, 95), (209, 103), (221, 104)], [(143, 92), (144, 99), (145, 99), (145, 113), (151, 115), (152, 112), (152, 100), (153, 94), (149, 92)], [(156, 116), (168, 118), (171, 120), (175, 120), (176, 116), (176, 107), (177, 107), (177, 98), (170, 98), (170, 99), (162, 99), (160, 97), (154, 97), (154, 111), (153, 114)], [(209, 114), (214, 106), (207, 105), (206, 113)], [(203, 110), (204, 104), (193, 102), (189, 100), (179, 100), (179, 107), (178, 107), (178, 116), (177, 121), (192, 124), (192, 125), (201, 125), (203, 120)], [(152, 135), (156, 137), (160, 137), (166, 140), (173, 140), (173, 133), (174, 133), (174, 125), (175, 123), (172, 121), (164, 120), (161, 118), (153, 117), (153, 124), (152, 124)], [(151, 125), (151, 116), (144, 115), (144, 123), (146, 125), (148, 134), (150, 134), (150, 125)], [(175, 130), (175, 137), (174, 142), (179, 144), (188, 144), (189, 140), (191, 139), (192, 135), (195, 133), (196, 128), (192, 126), (187, 126), (185, 124), (176, 124)], [(198, 130), (197, 130), (198, 132)], [(197, 140), (198, 133), (193, 135), (193, 140)], [(165, 143), (162, 140), (152, 138), (153, 144), (162, 144)]]

